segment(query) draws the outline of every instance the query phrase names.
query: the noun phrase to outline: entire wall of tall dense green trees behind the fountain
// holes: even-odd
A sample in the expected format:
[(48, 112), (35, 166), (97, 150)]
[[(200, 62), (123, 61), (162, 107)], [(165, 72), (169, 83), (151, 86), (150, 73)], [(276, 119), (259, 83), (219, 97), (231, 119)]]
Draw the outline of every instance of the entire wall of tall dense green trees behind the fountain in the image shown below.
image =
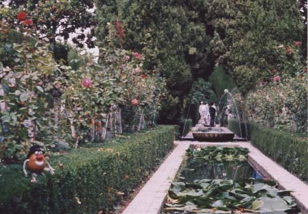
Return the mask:
[[(303, 22), (297, 1), (95, 1), (96, 36), (104, 47), (107, 23), (126, 27), (125, 47), (149, 56), (144, 67), (167, 78), (161, 122), (180, 114), (191, 83), (209, 78), (214, 60), (242, 93), (270, 82), (272, 71), (294, 76), (303, 64)], [(307, 16), (307, 15), (305, 15)], [(145, 46), (147, 46), (145, 48)], [(102, 56), (102, 55), (101, 55)], [(214, 78), (213, 78), (214, 79)], [(214, 80), (215, 82), (215, 80)], [(219, 82), (222, 84), (222, 82)], [(222, 95), (222, 89), (216, 93)], [(224, 89), (224, 88), (223, 88)]]

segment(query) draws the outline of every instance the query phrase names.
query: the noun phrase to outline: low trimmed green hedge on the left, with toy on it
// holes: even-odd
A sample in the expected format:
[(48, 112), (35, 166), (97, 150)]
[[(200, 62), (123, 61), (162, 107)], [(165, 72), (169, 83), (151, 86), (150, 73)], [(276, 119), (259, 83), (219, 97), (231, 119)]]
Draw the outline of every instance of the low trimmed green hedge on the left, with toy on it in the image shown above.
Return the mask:
[(160, 163), (174, 133), (174, 126), (158, 126), (54, 155), (56, 174), (46, 172), (36, 184), (25, 178), (21, 165), (0, 165), (0, 213), (106, 213)]

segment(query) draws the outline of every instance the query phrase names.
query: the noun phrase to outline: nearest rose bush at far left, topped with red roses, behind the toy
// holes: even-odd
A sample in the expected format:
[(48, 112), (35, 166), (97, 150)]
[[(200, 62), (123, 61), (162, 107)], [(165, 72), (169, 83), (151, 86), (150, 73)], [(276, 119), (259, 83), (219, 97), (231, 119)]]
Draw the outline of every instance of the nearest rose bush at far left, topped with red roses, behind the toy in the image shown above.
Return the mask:
[[(20, 12), (17, 18), (22, 21), (26, 16)], [(25, 30), (22, 23), (20, 29)], [(9, 161), (25, 154), (30, 143), (48, 145), (54, 140), (51, 108), (62, 87), (63, 69), (43, 42), (11, 43), (5, 23), (1, 32), (5, 48), (0, 51), (0, 158)]]

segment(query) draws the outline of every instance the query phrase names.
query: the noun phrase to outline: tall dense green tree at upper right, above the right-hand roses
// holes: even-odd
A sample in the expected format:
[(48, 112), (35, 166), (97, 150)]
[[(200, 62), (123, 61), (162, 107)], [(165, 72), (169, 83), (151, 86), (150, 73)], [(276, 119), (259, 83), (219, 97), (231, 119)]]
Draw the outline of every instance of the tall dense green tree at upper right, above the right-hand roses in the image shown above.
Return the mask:
[(292, 45), (300, 45), (303, 23), (297, 1), (211, 1), (209, 16), (217, 61), (242, 92), (270, 81), (273, 69), (298, 72), (303, 61)]

